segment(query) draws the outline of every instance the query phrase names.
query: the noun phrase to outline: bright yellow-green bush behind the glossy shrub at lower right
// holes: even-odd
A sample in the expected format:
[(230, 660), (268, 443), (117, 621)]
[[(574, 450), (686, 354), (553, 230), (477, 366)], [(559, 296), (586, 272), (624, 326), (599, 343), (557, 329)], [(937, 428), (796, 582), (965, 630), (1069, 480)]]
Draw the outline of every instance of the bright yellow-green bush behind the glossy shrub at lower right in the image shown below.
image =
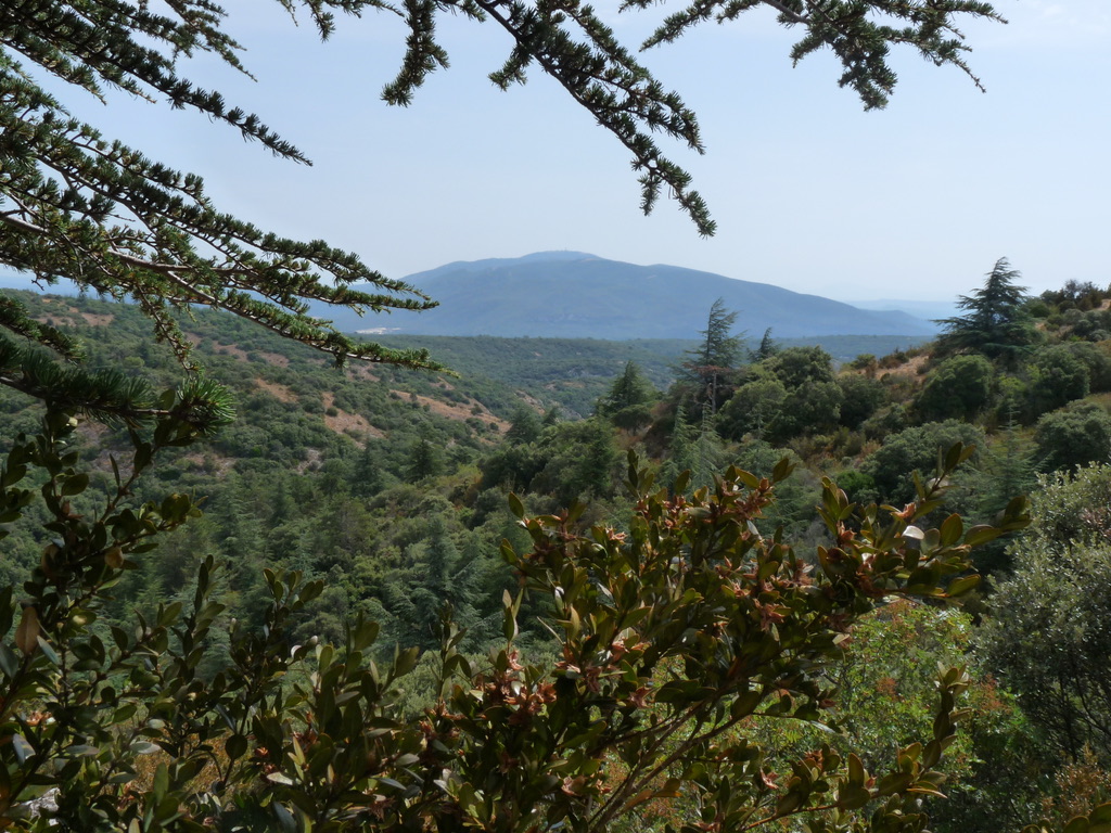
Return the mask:
[(841, 754), (867, 751), (861, 761), (869, 770), (887, 769), (930, 729), (937, 668), (967, 664), (969, 713), (947, 750), (947, 800), (928, 805), (931, 830), (1018, 830), (1035, 812), (1028, 803), (1037, 792), (1032, 784), (997, 781), (1005, 777), (1001, 764), (1019, 769), (1000, 746), (1037, 754), (1037, 741), (1014, 699), (970, 656), (973, 632), (971, 618), (953, 609), (905, 600), (878, 608), (849, 631), (844, 655), (830, 670), (839, 692), (829, 715), (835, 731), (779, 722), (761, 726), (759, 736), (784, 759), (824, 741)]

